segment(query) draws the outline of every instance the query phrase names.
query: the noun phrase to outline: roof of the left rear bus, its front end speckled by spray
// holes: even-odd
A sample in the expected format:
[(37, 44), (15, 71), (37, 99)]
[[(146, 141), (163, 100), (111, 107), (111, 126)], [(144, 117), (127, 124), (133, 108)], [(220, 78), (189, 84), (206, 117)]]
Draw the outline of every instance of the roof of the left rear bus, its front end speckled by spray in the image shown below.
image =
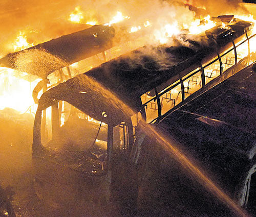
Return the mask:
[(72, 75), (70, 65), (100, 53), (105, 57), (104, 51), (113, 46), (114, 36), (113, 27), (95, 25), (39, 43), (22, 51), (10, 53), (1, 58), (0, 63), (4, 67), (24, 71), (30, 77), (41, 78), (48, 83), (48, 76), (58, 70), (58, 79), (66, 80), (63, 68), (67, 68), (67, 76), (72, 78), (74, 75)]

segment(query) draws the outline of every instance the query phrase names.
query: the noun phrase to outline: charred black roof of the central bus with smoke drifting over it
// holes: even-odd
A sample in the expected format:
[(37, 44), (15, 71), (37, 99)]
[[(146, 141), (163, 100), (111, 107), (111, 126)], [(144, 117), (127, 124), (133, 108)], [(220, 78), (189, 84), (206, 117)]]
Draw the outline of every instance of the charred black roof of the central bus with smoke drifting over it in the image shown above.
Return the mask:
[[(191, 66), (198, 67), (198, 63), (202, 62), (203, 59), (216, 54), (216, 52), (220, 52), (223, 46), (243, 35), (252, 25), (253, 23), (251, 22), (239, 20), (237, 23), (230, 25), (229, 28), (219, 27), (220, 31), (218, 34), (216, 33), (216, 28), (214, 28), (212, 29), (214, 31), (212, 38), (207, 38), (205, 35), (197, 36), (200, 40), (204, 40), (204, 43), (199, 43), (199, 40), (192, 40), (190, 36), (187, 36), (185, 39), (186, 46), (168, 47), (162, 45), (158, 47), (141, 47), (138, 50), (103, 63), (87, 73), (78, 75), (65, 83), (57, 85), (42, 95), (44, 98), (42, 101), (48, 105), (48, 95), (49, 99), (52, 99), (54, 95), (56, 100), (68, 101), (80, 110), (92, 115), (92, 117), (101, 120), (100, 115), (104, 109), (109, 108), (109, 111), (104, 112), (111, 114), (113, 106), (106, 106), (108, 104), (108, 97), (104, 97), (94, 90), (93, 87), (88, 86), (87, 80), (93, 79), (99, 85), (116, 94), (119, 99), (132, 109), (139, 111), (142, 109), (140, 96), (143, 93), (172, 79), (181, 71)], [(239, 31), (232, 31), (234, 27)], [(207, 31), (207, 35), (210, 35), (210, 31)], [(220, 35), (222, 40), (218, 38)], [(219, 43), (221, 41), (221, 44), (218, 41)], [(90, 92), (90, 94), (78, 94), (79, 92)], [(100, 99), (97, 103), (95, 96), (97, 96), (98, 100)], [(85, 98), (88, 99), (86, 100)], [(89, 101), (92, 102), (90, 106), (83, 105), (84, 102), (88, 103)], [(96, 111), (98, 112), (97, 115), (95, 113)], [(111, 122), (111, 118), (116, 120), (118, 115), (115, 115), (114, 112), (113, 116), (110, 115), (108, 118), (108, 121)]]

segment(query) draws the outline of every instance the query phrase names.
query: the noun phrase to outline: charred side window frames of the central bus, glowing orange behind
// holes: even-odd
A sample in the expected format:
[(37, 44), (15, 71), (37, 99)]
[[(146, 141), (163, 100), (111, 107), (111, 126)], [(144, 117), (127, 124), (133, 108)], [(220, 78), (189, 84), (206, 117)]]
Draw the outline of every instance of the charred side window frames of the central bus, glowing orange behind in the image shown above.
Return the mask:
[[(241, 40), (241, 38), (243, 38), (243, 40)], [(213, 58), (213, 60), (211, 59), (209, 61), (208, 58), (205, 58), (196, 65), (189, 67), (189, 72), (187, 72), (187, 70), (181, 71), (181, 73), (176, 76), (176, 79), (175, 77), (171, 79), (173, 83), (169, 82), (170, 85), (168, 87), (165, 87), (164, 89), (162, 88), (162, 86), (156, 86), (153, 90), (151, 90), (151, 92), (155, 93), (155, 96), (143, 103), (144, 107), (148, 106), (153, 110), (154, 108), (150, 104), (156, 105), (155, 110), (157, 110), (157, 112), (155, 113), (155, 118), (147, 118), (147, 122), (158, 122), (158, 120), (165, 117), (169, 113), (172, 113), (180, 106), (186, 104), (190, 100), (196, 98), (201, 93), (207, 91), (218, 83), (236, 74), (237, 71), (246, 67), (249, 63), (253, 62), (255, 60), (255, 54), (250, 52), (250, 41), (255, 40), (255, 35), (248, 36), (248, 32), (245, 31), (245, 34), (243, 36), (240, 36), (239, 38), (236, 38), (230, 42), (231, 44), (229, 45), (228, 49), (225, 50), (225, 47), (228, 46), (227, 45), (224, 48), (218, 50), (216, 52), (216, 57)], [(246, 46), (247, 51), (244, 51), (243, 57), (241, 58), (241, 53), (239, 50), (242, 46)], [(205, 69), (211, 66), (214, 67), (209, 75), (209, 73)], [(213, 71), (215, 70), (218, 71), (218, 74), (217, 76), (212, 77), (212, 74), (214, 74)], [(193, 89), (192, 87), (190, 87), (189, 82), (201, 83), (200, 88), (194, 90), (194, 92), (189, 92), (189, 89)], [(171, 97), (168, 98), (167, 95), (171, 96), (172, 90), (175, 89), (175, 87), (177, 87), (178, 85), (180, 85), (180, 102), (176, 103), (177, 99), (172, 99)], [(166, 97), (164, 97), (164, 94), (166, 95)], [(163, 111), (163, 99), (167, 99), (173, 104), (167, 109), (167, 111), (166, 109), (165, 111)]]

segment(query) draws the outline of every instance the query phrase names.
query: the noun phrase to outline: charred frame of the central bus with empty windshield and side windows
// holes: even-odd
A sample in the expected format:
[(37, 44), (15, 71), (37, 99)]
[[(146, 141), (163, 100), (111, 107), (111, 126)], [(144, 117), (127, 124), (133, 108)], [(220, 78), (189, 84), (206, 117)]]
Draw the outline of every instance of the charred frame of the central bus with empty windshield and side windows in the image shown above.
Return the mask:
[[(68, 169), (69, 171), (74, 171), (74, 174), (79, 177), (79, 179), (83, 180), (80, 180), (79, 183), (86, 183), (91, 187), (95, 187), (92, 186), (91, 183), (98, 180), (97, 187), (100, 188), (104, 186), (104, 190), (101, 189), (99, 191), (101, 195), (97, 197), (98, 199), (102, 199), (103, 197), (103, 200), (108, 200), (113, 183), (112, 179), (116, 178), (114, 175), (115, 168), (113, 167), (114, 156), (116, 156), (113, 155), (113, 153), (115, 153), (113, 151), (115, 143), (113, 129), (115, 126), (118, 127), (122, 122), (124, 122), (124, 124), (120, 126), (121, 128), (124, 129), (124, 126), (127, 126), (125, 130), (126, 134), (125, 131), (123, 131), (124, 143), (121, 144), (119, 142), (118, 149), (119, 152), (121, 151), (123, 153), (123, 156), (126, 156), (123, 159), (130, 158), (131, 149), (134, 146), (134, 138), (136, 137), (136, 122), (138, 118), (127, 117), (123, 111), (118, 109), (118, 103), (116, 102), (116, 104), (115, 100), (109, 98), (108, 94), (104, 92), (110, 91), (114, 93), (114, 95), (129, 105), (134, 111), (141, 113), (142, 118), (146, 119), (147, 123), (158, 122), (167, 114), (189, 102), (197, 95), (217, 85), (231, 75), (236, 74), (241, 68), (248, 65), (251, 60), (255, 60), (255, 53), (251, 53), (249, 46), (249, 42), (256, 39), (255, 35), (250, 35), (252, 26), (253, 23), (251, 22), (237, 20), (234, 24), (229, 25), (228, 28), (222, 28), (220, 32), (218, 32), (218, 28), (217, 30), (212, 29), (206, 33), (212, 36), (212, 38), (208, 37), (210, 46), (204, 47), (200, 46), (200, 44), (195, 41), (189, 41), (189, 43), (195, 45), (196, 51), (188, 49), (187, 47), (158, 47), (157, 51), (164, 51), (172, 56), (172, 58), (176, 58), (176, 62), (174, 61), (171, 65), (168, 65), (169, 59), (167, 58), (167, 67), (159, 66), (151, 56), (144, 55), (143, 49), (145, 48), (142, 48), (133, 52), (132, 55), (135, 55), (135, 58), (132, 61), (136, 63), (139, 57), (139, 59), (142, 59), (145, 63), (143, 67), (141, 67), (140, 64), (132, 64), (133, 67), (129, 64), (127, 65), (127, 61), (131, 61), (131, 55), (123, 55), (46, 91), (39, 100), (33, 133), (33, 159), (37, 187), (49, 187), (52, 183), (49, 183), (47, 177), (56, 176), (55, 172), (60, 171), (62, 167), (61, 163), (47, 151), (47, 148), (42, 146), (41, 113), (43, 110), (52, 106), (53, 139), (55, 133), (58, 133), (60, 129), (58, 101), (66, 101), (81, 112), (108, 125), (104, 168), (102, 167), (99, 173), (94, 173), (93, 171), (82, 172), (73, 170), (70, 167)], [(239, 56), (239, 49), (243, 45), (247, 47), (247, 53), (245, 53), (244, 57), (241, 57)], [(230, 56), (228, 55), (231, 52), (234, 53), (234, 55), (231, 56), (233, 66), (230, 66), (230, 62), (228, 62), (230, 61)], [(187, 56), (184, 57), (184, 54)], [(215, 56), (216, 58), (214, 58)], [(227, 62), (224, 63), (224, 59), (227, 60)], [(215, 77), (207, 76), (207, 74), (205, 74), (207, 73), (207, 67), (215, 67), (214, 64), (217, 62), (220, 67), (218, 74)], [(136, 67), (134, 67), (134, 65)], [(212, 70), (215, 70), (215, 68)], [(200, 78), (200, 82), (195, 80), (197, 79), (195, 78), (197, 74), (198, 76), (196, 77)], [(199, 84), (199, 87), (194, 89), (194, 92), (189, 92), (189, 88), (191, 88), (189, 87), (189, 82), (195, 82), (195, 84)], [(99, 89), (98, 85), (95, 85), (96, 83), (99, 84), (99, 86), (103, 86), (105, 89)], [(180, 86), (180, 92), (176, 91), (176, 94), (178, 97), (180, 96), (179, 104), (176, 100), (178, 99), (177, 97), (176, 99), (166, 99), (173, 100), (170, 101), (173, 102), (173, 105), (169, 106), (164, 112), (163, 104), (161, 104), (161, 101), (163, 102), (164, 100), (164, 94), (167, 95), (168, 93), (171, 95), (172, 92), (170, 92), (170, 90), (176, 88), (178, 85)], [(103, 92), (100, 90), (103, 90)], [(143, 97), (150, 98), (150, 100), (143, 102)], [(174, 100), (176, 100), (176, 102)], [(153, 103), (155, 103), (156, 107), (152, 109), (155, 112), (152, 116), (152, 113), (150, 113), (148, 109), (151, 109), (149, 107), (153, 106), (150, 105)], [(132, 161), (133, 159), (136, 160), (137, 157), (133, 156)], [(127, 162), (128, 161), (125, 161), (124, 163), (126, 166)], [(56, 167), (53, 172), (49, 170), (51, 167)], [(67, 166), (65, 167), (66, 169), (68, 168)], [(44, 172), (44, 169), (46, 172)], [(119, 169), (121, 170), (122, 167)], [(65, 174), (65, 172), (63, 173)], [(98, 179), (99, 177), (101, 178)], [(44, 185), (44, 182), (48, 182), (49, 185)], [(71, 182), (69, 182), (69, 184), (70, 183)], [(122, 184), (120, 185), (122, 186)], [(85, 188), (86, 187), (83, 186), (83, 189)], [(85, 191), (89, 197), (90, 194), (87, 190)]]

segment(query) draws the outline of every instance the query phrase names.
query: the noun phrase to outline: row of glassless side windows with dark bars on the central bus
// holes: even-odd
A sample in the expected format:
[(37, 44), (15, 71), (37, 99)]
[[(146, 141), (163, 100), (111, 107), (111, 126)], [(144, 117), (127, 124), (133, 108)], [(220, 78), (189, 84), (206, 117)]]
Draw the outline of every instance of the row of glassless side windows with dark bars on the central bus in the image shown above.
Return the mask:
[[(227, 79), (231, 75), (236, 74), (241, 69), (241, 67), (238, 67), (237, 71), (233, 67), (240, 65), (240, 62), (243, 63), (243, 67), (246, 67), (251, 60), (250, 40), (252, 38), (256, 40), (256, 34), (248, 37), (246, 33), (245, 36), (246, 39), (239, 42), (237, 45), (234, 43), (234, 41), (232, 41), (231, 48), (222, 54), (217, 53), (216, 58), (206, 63), (205, 65), (198, 63), (195, 67), (196, 69), (189, 71), (189, 73), (183, 76), (183, 78), (180, 76), (181, 73), (179, 73), (179, 79), (167, 86), (165, 89), (157, 91), (157, 88), (154, 88), (154, 97), (148, 97), (150, 99), (143, 100), (144, 102), (142, 102), (142, 105), (146, 111), (146, 122), (155, 122), (157, 119), (166, 116), (165, 114), (172, 112), (173, 110), (193, 99), (193, 96), (196, 96), (197, 92), (202, 92), (204, 90), (206, 91), (207, 89)], [(245, 54), (244, 58), (240, 59), (238, 58), (237, 51), (246, 42), (248, 44), (248, 53)], [(209, 67), (212, 67), (212, 69), (208, 69)], [(229, 70), (231, 68), (232, 70)], [(228, 71), (231, 72), (230, 76), (226, 75), (228, 74)], [(220, 77), (223, 78), (219, 79)], [(195, 88), (195, 86), (197, 87)], [(168, 98), (166, 97), (167, 95), (169, 96)], [(146, 93), (144, 93), (142, 96), (147, 98)], [(154, 104), (154, 106), (151, 104)], [(166, 104), (168, 104), (168, 109), (163, 109), (163, 107), (166, 107)]]

